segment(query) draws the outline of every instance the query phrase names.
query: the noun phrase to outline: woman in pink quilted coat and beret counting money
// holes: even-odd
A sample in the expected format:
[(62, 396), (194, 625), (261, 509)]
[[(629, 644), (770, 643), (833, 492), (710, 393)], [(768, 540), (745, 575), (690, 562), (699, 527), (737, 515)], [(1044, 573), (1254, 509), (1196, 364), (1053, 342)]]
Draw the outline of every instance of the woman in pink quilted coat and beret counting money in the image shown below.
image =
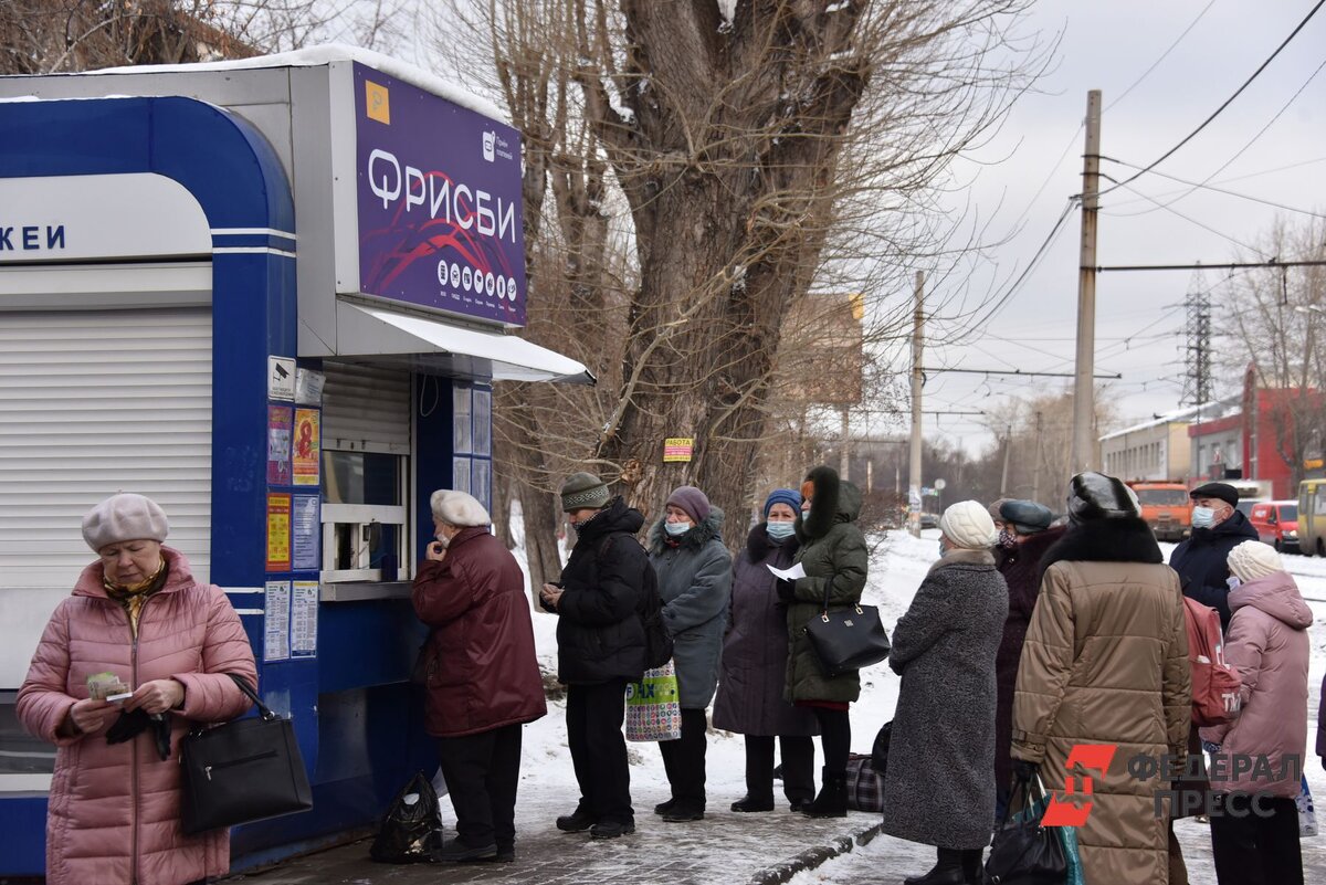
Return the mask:
[[(17, 714), (58, 747), (46, 815), (48, 885), (183, 885), (229, 870), (229, 833), (180, 832), (179, 739), (249, 707), (257, 686), (240, 619), (163, 547), (162, 509), (117, 494), (84, 517), (98, 559), (60, 603), (19, 690)], [(110, 673), (131, 696), (90, 697)], [(114, 741), (114, 742), (113, 742)]]

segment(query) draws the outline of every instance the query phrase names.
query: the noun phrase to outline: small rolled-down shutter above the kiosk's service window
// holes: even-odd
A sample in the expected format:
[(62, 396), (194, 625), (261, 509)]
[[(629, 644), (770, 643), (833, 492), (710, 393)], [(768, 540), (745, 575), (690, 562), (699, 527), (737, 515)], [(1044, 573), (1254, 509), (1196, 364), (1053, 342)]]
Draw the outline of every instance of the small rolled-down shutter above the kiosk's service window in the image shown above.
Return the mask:
[(410, 454), (410, 374), (325, 362), (322, 446)]

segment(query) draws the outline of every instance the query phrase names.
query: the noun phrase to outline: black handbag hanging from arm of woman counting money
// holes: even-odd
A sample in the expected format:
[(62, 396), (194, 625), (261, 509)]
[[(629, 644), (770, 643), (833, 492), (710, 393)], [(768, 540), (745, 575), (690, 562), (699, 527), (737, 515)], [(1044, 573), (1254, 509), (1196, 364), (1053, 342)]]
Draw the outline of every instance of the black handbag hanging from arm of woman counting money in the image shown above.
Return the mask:
[(228, 676), (260, 715), (198, 726), (180, 741), (180, 827), (188, 835), (313, 807), (290, 721), (263, 703), (248, 682)]

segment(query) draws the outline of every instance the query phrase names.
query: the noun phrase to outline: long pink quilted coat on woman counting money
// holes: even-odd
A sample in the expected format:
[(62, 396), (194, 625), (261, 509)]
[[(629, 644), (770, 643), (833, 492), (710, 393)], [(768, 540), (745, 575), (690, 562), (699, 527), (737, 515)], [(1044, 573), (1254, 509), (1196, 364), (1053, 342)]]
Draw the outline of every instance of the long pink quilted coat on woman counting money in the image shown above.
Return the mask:
[[(249, 707), (224, 676), (257, 685), (253, 651), (220, 587), (199, 584), (188, 560), (162, 547), (166, 586), (145, 604), (134, 647), (129, 615), (102, 588), (101, 563), (84, 570), (46, 624), (19, 690), (24, 727), (58, 746), (46, 816), (48, 885), (182, 885), (229, 870), (229, 832), (186, 836), (179, 828), (179, 739), (195, 722), (224, 722)], [(171, 758), (151, 730), (109, 745), (102, 731), (57, 737), (86, 678), (110, 672), (131, 688), (175, 678), (184, 706), (171, 714)]]

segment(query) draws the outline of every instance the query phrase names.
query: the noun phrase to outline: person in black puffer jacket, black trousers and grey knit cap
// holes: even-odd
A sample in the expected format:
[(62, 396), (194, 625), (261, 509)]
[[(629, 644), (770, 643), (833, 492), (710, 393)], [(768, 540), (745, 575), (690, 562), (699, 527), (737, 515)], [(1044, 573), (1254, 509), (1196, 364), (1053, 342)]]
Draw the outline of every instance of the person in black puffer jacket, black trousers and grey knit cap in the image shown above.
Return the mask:
[(634, 537), (644, 517), (610, 498), (593, 473), (573, 473), (561, 498), (578, 538), (560, 584), (544, 584), (540, 601), (558, 616), (557, 678), (566, 685), (566, 743), (581, 799), (557, 828), (615, 839), (635, 832), (622, 722), (626, 685), (644, 676), (639, 609), (650, 562)]

